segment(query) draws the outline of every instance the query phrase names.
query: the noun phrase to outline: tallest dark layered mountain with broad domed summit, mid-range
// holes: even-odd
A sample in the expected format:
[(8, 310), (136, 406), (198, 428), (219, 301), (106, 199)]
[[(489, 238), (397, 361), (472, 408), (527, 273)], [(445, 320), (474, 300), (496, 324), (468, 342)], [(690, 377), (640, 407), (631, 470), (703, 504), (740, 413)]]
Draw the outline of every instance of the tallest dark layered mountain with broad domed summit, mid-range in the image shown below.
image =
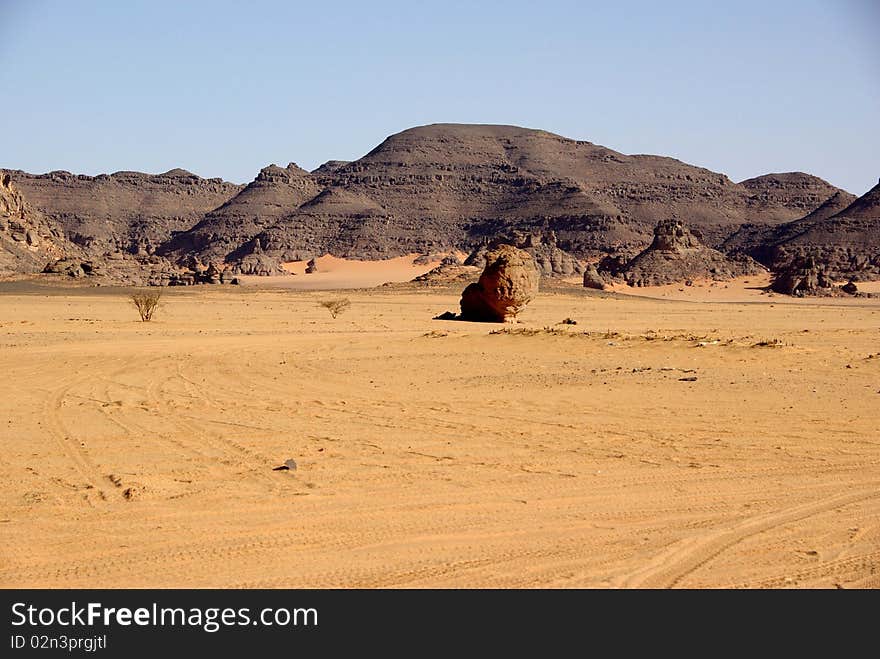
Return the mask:
[(838, 191), (806, 174), (736, 184), (672, 158), (628, 156), (540, 130), (458, 124), (405, 130), (310, 177), (304, 188), (316, 186), (316, 196), (291, 196), (261, 226), (203, 223), (160, 252), (222, 256), (231, 265), (322, 252), (372, 259), (470, 252), (516, 229), (552, 231), (559, 249), (584, 258), (642, 249), (669, 217), (687, 218), (707, 244), (719, 245), (744, 223), (794, 220)]

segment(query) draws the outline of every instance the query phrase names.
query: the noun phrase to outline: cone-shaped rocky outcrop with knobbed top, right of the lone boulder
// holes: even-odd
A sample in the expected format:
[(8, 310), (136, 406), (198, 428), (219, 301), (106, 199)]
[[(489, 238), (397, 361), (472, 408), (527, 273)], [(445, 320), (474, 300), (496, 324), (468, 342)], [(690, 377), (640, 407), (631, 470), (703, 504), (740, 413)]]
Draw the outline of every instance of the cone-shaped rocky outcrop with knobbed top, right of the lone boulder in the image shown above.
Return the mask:
[(608, 274), (630, 286), (660, 286), (704, 278), (723, 281), (762, 270), (749, 257), (731, 258), (706, 247), (680, 220), (671, 219), (657, 224), (650, 247)]

